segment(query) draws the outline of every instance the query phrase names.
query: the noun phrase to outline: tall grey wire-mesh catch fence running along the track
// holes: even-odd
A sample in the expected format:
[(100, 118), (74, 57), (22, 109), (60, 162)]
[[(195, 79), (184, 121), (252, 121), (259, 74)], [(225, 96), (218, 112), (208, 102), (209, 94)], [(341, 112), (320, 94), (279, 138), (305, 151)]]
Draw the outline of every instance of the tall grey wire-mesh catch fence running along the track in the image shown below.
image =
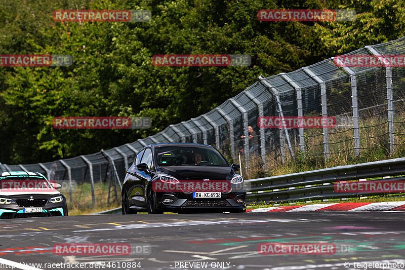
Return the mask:
[[(347, 55), (403, 54), (405, 37)], [(50, 179), (66, 181), (69, 195), (74, 192), (72, 183), (92, 183), (94, 205), (94, 197), (106, 194), (106, 188), (110, 190), (108, 199), (120, 200), (119, 180), (145, 145), (194, 142), (214, 145), (229, 161), (241, 163), (242, 175), (251, 179), (258, 171), (269, 171), (297, 156), (328, 160), (368, 155), (381, 148), (393, 152), (404, 141), (404, 94), (405, 68), (337, 67), (331, 58), (293, 72), (260, 76), (212, 111), (153, 136), (50, 163), (0, 164), (0, 170), (42, 172)], [(283, 115), (335, 117), (337, 125), (307, 129), (258, 126), (259, 117)]]

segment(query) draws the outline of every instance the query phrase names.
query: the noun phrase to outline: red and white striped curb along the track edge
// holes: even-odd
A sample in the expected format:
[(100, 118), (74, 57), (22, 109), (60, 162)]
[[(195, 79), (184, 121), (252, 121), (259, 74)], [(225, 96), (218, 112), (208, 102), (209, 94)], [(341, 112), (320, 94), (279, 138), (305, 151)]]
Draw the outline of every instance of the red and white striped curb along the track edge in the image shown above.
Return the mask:
[(334, 203), (274, 206), (267, 208), (248, 209), (246, 212), (310, 212), (310, 211), (405, 211), (405, 202), (381, 203)]

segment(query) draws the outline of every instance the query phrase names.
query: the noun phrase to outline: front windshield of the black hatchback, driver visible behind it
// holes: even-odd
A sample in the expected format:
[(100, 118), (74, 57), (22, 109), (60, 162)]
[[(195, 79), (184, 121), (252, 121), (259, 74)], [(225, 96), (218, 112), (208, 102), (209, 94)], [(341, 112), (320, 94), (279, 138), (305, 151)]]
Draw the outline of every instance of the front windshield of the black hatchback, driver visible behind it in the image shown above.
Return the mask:
[(229, 166), (216, 149), (209, 147), (161, 146), (155, 153), (159, 166)]

